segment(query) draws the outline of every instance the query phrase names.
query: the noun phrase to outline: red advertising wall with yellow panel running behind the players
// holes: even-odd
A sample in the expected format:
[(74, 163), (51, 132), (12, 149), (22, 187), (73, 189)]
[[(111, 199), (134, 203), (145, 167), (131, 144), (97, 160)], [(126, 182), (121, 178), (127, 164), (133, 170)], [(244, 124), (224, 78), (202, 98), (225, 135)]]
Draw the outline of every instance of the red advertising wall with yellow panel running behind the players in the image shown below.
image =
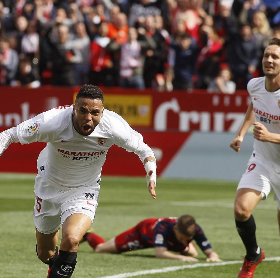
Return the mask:
[[(1, 87), (0, 132), (59, 105), (72, 104), (79, 88)], [(246, 91), (235, 95), (174, 91), (160, 93), (122, 88), (103, 88), (105, 108), (120, 114), (142, 133), (153, 148), (160, 175), (190, 132), (236, 132), (250, 98)], [(11, 101), (12, 100), (12, 101)], [(36, 159), (44, 143), (12, 144), (0, 159), (0, 172), (36, 172)], [(113, 146), (102, 169), (106, 175), (143, 175), (141, 162), (133, 153)], [(122, 163), (120, 163), (120, 161)]]

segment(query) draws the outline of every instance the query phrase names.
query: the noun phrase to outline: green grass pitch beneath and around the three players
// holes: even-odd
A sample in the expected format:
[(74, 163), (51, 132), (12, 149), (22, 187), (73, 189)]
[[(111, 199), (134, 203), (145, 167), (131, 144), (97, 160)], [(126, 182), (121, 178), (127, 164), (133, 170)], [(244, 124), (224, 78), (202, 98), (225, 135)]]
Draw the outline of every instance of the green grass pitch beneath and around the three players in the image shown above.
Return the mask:
[[(34, 206), (35, 175), (0, 174), (0, 278), (38, 278), (47, 276), (47, 266), (35, 252)], [(157, 200), (149, 195), (144, 178), (103, 177), (99, 205), (92, 228), (105, 240), (148, 217), (193, 215), (224, 261), (240, 260), (245, 249), (237, 235), (233, 201), (237, 182), (159, 179)], [(266, 257), (279, 256), (277, 207), (271, 193), (254, 211), (258, 244)], [(199, 250), (199, 262), (205, 256)], [(95, 254), (87, 243), (78, 250), (73, 278), (96, 278), (124, 272), (160, 269), (192, 264), (158, 259), (153, 249), (123, 254)], [(198, 267), (136, 277), (237, 277), (240, 264)], [(280, 262), (262, 262), (254, 278), (278, 278)]]

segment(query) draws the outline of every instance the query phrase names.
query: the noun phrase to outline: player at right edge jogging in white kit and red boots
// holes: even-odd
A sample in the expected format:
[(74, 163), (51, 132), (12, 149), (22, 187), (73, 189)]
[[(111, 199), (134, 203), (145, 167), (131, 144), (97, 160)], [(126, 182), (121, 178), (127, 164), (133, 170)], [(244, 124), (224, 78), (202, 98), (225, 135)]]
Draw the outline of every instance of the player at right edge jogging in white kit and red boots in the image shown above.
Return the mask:
[(264, 251), (257, 245), (252, 211), (271, 189), (277, 200), (280, 227), (280, 39), (269, 41), (262, 66), (265, 76), (253, 78), (247, 85), (252, 101), (230, 145), (238, 152), (245, 133), (254, 124), (254, 151), (240, 179), (234, 204), (236, 228), (246, 248), (238, 278), (253, 277), (256, 266), (264, 259)]

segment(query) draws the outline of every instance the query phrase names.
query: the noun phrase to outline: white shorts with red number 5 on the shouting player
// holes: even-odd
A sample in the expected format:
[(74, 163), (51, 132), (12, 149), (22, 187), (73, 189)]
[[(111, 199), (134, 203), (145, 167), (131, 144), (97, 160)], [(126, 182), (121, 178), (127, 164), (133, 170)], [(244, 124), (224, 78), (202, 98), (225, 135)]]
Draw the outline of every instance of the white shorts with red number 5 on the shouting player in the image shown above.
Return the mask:
[[(100, 182), (100, 181), (99, 181)], [(68, 216), (82, 213), (93, 223), (98, 205), (98, 191), (94, 186), (60, 190), (46, 183), (39, 174), (35, 179), (35, 205), (33, 219), (35, 227), (43, 234), (51, 234), (62, 226)]]

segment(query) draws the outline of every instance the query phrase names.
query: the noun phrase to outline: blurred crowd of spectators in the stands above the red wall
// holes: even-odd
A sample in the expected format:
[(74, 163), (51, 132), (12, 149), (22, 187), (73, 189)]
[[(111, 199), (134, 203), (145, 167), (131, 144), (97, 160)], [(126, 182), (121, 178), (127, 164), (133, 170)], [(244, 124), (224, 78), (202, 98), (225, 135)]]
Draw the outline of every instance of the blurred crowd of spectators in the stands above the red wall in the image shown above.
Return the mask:
[(273, 37), (280, 0), (0, 0), (0, 84), (234, 93)]

